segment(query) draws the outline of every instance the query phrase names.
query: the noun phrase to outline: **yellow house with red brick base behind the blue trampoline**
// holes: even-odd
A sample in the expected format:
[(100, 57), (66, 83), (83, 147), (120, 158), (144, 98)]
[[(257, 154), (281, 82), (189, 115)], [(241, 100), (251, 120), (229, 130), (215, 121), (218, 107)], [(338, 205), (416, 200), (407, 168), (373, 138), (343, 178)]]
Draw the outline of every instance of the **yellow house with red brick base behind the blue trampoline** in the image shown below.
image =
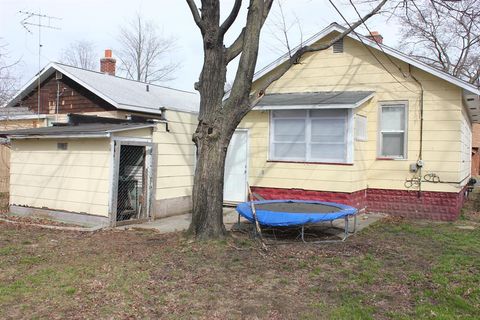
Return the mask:
[[(332, 24), (307, 44), (344, 30)], [(287, 59), (258, 72), (254, 89)], [(225, 199), (245, 200), (239, 186), (248, 180), (265, 199), (455, 219), (470, 178), (479, 94), (351, 33), (328, 50), (305, 54), (243, 119), (228, 151)]]

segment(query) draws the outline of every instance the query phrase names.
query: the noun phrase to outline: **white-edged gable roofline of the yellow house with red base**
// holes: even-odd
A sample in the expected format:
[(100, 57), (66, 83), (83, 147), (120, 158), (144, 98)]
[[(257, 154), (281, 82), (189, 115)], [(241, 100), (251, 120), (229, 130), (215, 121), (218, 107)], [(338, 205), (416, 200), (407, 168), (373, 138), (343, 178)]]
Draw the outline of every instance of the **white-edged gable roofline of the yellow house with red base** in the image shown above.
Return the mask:
[[(311, 38), (307, 39), (305, 42), (303, 42), (300, 45), (298, 45), (297, 47), (293, 48), (292, 51), (295, 52), (297, 49), (300, 48), (300, 46), (312, 45), (315, 42), (321, 40), (322, 38), (324, 38), (325, 36), (329, 35), (332, 32), (342, 33), (345, 30), (347, 30), (347, 29), (345, 27), (342, 27), (338, 23), (332, 23), (328, 27), (326, 27), (325, 29), (320, 31), (319, 33), (317, 33), (314, 36), (312, 36)], [(408, 64), (410, 64), (414, 67), (417, 67), (418, 69), (421, 69), (425, 72), (428, 72), (428, 73), (430, 73), (434, 76), (437, 76), (437, 77), (439, 77), (439, 78), (441, 78), (441, 79), (443, 79), (447, 82), (450, 82), (450, 83), (464, 89), (465, 91), (469, 92), (470, 94), (480, 95), (480, 89), (478, 87), (476, 87), (475, 85), (473, 85), (471, 83), (468, 83), (467, 81), (464, 81), (462, 79), (459, 79), (455, 76), (452, 76), (449, 73), (438, 70), (437, 68), (429, 66), (429, 65), (427, 65), (427, 64), (425, 64), (425, 63), (423, 63), (419, 60), (413, 59), (403, 52), (400, 52), (400, 51), (398, 51), (396, 49), (393, 49), (389, 46), (386, 46), (384, 44), (377, 43), (373, 40), (370, 40), (367, 37), (359, 35), (357, 32), (350, 32), (349, 34), (347, 34), (347, 37), (349, 37), (351, 39), (354, 39), (356, 41), (359, 41), (359, 42), (363, 41), (363, 43), (365, 43), (366, 45), (368, 45), (368, 46), (370, 46), (374, 49), (377, 49), (377, 50), (383, 49), (383, 51), (385, 51), (386, 54), (391, 55), (392, 57), (395, 57), (395, 58), (397, 58), (397, 59), (399, 59), (399, 60), (401, 60), (405, 63), (408, 63)], [(276, 67), (280, 66), (282, 63), (286, 62), (289, 58), (290, 58), (290, 55), (289, 55), (288, 52), (285, 53), (284, 55), (280, 56), (277, 60), (271, 62), (270, 64), (268, 64), (264, 68), (257, 71), (255, 73), (255, 76), (254, 76), (253, 80), (256, 81), (256, 80), (260, 79), (261, 77), (263, 77), (264, 75), (266, 75), (267, 73), (269, 73), (270, 71), (275, 69)]]

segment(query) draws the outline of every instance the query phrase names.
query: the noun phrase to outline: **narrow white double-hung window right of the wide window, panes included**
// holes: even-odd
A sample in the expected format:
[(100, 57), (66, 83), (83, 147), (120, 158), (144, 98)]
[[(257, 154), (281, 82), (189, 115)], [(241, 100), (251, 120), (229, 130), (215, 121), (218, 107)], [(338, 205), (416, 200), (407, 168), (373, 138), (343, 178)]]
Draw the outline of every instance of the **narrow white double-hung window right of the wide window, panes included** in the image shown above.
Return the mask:
[(407, 117), (406, 103), (380, 104), (380, 157), (406, 159)]

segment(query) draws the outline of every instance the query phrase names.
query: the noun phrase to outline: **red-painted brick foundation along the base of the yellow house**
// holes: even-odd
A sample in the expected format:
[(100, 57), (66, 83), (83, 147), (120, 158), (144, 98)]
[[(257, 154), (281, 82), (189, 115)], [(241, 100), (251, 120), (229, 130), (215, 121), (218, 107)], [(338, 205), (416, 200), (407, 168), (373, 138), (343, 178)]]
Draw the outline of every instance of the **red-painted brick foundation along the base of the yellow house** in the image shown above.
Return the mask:
[(406, 218), (452, 221), (458, 218), (465, 202), (465, 189), (459, 193), (365, 189), (352, 193), (303, 189), (252, 187), (267, 200), (299, 199), (338, 202), (366, 212), (381, 212)]

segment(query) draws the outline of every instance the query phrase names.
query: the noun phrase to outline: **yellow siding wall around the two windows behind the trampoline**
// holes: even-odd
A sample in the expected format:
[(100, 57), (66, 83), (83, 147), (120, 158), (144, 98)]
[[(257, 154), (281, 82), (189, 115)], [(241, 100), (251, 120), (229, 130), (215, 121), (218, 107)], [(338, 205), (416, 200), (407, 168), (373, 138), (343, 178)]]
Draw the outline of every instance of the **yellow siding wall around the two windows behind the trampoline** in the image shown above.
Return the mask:
[[(330, 48), (306, 54), (300, 64), (290, 68), (267, 90), (267, 93), (375, 91), (372, 100), (355, 110), (367, 116), (368, 141), (355, 141), (354, 164), (268, 162), (269, 114), (252, 111), (239, 126), (250, 129), (250, 184), (338, 192), (367, 187), (405, 189), (405, 179), (412, 177), (409, 165), (416, 162), (419, 154), (420, 89), (412, 77), (405, 78), (383, 53), (372, 50), (398, 82), (361, 43), (345, 39), (343, 53), (333, 53)], [(408, 74), (407, 64), (392, 59)], [(459, 181), (465, 174), (460, 168), (466, 167), (462, 165), (461, 124), (465, 121), (462, 90), (419, 69), (412, 67), (411, 72), (425, 89), (423, 174), (436, 173), (444, 181)], [(395, 100), (408, 101), (408, 159), (376, 160), (379, 102)], [(423, 183), (422, 189), (458, 192), (460, 186)]]

